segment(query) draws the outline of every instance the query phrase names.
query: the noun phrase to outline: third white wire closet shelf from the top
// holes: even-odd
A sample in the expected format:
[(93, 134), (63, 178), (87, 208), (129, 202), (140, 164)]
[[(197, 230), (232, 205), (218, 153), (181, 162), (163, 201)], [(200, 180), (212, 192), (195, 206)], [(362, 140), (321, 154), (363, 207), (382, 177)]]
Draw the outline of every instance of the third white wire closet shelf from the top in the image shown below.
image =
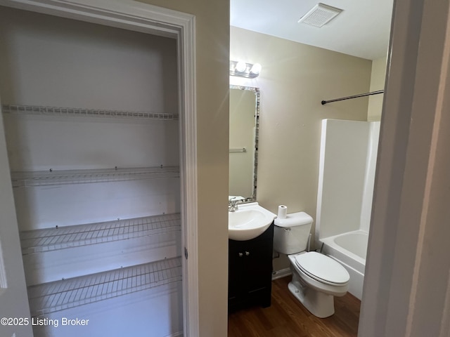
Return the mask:
[(181, 230), (179, 213), (20, 232), (23, 255)]

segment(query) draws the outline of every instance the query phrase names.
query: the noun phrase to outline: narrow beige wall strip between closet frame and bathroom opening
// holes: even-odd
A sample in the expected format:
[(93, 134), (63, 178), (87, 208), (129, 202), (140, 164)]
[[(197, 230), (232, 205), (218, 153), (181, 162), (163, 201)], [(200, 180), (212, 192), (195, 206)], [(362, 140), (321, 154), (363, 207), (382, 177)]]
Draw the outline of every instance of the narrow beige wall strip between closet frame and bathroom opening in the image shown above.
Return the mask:
[(229, 1), (143, 0), (195, 15), (200, 337), (227, 334)]

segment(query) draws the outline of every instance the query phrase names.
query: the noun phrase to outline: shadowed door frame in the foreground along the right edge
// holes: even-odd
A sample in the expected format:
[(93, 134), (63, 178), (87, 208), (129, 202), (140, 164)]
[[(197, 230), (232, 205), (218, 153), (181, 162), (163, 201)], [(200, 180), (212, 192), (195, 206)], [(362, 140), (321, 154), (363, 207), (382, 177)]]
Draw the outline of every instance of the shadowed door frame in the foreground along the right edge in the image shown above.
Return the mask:
[(450, 331), (450, 0), (396, 0), (361, 337)]

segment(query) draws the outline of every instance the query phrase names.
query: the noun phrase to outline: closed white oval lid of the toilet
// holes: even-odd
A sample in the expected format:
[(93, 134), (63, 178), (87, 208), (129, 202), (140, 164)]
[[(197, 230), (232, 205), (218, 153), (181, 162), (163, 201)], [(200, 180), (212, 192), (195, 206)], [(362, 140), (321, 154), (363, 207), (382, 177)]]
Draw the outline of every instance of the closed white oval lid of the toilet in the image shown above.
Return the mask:
[(318, 281), (345, 284), (350, 279), (350, 275), (345, 267), (342, 267), (340, 263), (332, 258), (316, 251), (295, 256), (295, 263), (305, 274)]

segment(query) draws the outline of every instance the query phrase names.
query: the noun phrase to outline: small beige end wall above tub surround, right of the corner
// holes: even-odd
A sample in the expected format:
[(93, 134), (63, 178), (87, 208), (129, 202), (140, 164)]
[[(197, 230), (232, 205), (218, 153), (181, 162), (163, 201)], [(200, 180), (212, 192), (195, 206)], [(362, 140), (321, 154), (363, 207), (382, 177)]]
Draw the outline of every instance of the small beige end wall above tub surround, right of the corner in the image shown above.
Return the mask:
[[(385, 88), (387, 58), (378, 58), (372, 61), (371, 91), (383, 90)], [(383, 108), (383, 93), (371, 95), (368, 98), (368, 121), (380, 121)]]

